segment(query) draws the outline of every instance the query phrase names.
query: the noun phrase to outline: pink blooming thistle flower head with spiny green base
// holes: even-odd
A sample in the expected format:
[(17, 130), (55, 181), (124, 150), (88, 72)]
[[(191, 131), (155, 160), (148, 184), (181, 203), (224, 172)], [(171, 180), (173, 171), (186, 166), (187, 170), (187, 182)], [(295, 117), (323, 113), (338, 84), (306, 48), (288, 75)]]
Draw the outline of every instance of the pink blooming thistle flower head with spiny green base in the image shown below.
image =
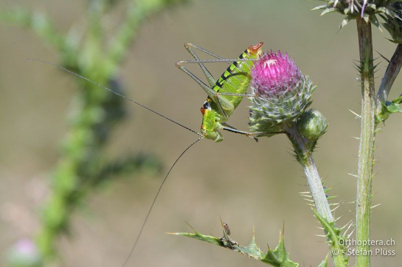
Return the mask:
[(251, 70), (251, 129), (276, 132), (294, 122), (311, 104), (315, 86), (287, 54), (266, 53)]

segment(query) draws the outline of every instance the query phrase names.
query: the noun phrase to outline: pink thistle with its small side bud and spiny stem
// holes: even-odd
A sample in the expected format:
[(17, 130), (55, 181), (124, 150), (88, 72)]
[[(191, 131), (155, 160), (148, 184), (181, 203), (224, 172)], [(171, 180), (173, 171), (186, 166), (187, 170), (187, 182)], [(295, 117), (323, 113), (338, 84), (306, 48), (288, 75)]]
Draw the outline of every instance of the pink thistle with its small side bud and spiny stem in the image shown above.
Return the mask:
[[(315, 214), (322, 222), (335, 266), (346, 266), (348, 258), (338, 242), (341, 229), (335, 227), (330, 204), (314, 163), (312, 153), (318, 139), (325, 133), (327, 122), (318, 110), (308, 110), (316, 89), (308, 76), (287, 56), (280, 52), (267, 53), (252, 70), (254, 97), (250, 126), (252, 131), (284, 131), (290, 140), (296, 160), (302, 165), (310, 188), (308, 197), (315, 206)], [(269, 135), (270, 136), (270, 135)]]

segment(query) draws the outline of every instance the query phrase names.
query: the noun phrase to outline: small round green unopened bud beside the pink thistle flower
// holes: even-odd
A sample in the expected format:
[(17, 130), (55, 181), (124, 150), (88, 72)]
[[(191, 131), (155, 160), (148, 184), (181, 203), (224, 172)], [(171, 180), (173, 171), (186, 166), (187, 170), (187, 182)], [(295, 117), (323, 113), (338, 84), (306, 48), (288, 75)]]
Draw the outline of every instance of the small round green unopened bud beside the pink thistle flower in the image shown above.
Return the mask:
[(301, 135), (315, 141), (327, 130), (328, 124), (324, 115), (315, 109), (306, 112), (297, 121), (297, 129)]

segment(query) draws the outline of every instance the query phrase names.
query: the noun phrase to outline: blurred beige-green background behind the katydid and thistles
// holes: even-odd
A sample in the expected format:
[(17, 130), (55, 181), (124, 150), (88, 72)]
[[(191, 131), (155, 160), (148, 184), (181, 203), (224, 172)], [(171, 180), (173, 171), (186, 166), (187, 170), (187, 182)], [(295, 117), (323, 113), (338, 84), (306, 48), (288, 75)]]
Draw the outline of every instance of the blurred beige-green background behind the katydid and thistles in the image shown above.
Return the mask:
[[(360, 111), (360, 87), (353, 61), (358, 59), (355, 23), (338, 31), (339, 15), (319, 17), (310, 11), (320, 2), (280, 0), (190, 1), (148, 19), (127, 55), (120, 81), (125, 95), (195, 130), (206, 94), (175, 68), (191, 59), (183, 47), (191, 42), (222, 57), (237, 57), (251, 44), (287, 52), (318, 89), (313, 107), (326, 115), (327, 134), (314, 154), (325, 185), (342, 202), (338, 225), (354, 219), (360, 123), (348, 110)], [(25, 7), (49, 14), (60, 31), (83, 21), (82, 1), (2, 1), (0, 9)], [(120, 3), (110, 13), (111, 25), (125, 10)], [(11, 245), (35, 234), (38, 211), (48, 194), (49, 172), (57, 163), (60, 140), (67, 130), (67, 112), (77, 90), (77, 78), (59, 69), (26, 60), (57, 63), (57, 53), (28, 30), (0, 24), (0, 251), (2, 262)], [(373, 29), (374, 48), (390, 58), (395, 45)], [(378, 54), (375, 56), (378, 57)], [(203, 58), (207, 58), (204, 57)], [(376, 85), (386, 62), (378, 59)], [(202, 75), (197, 66), (189, 66)], [(218, 76), (225, 64), (210, 64)], [(391, 91), (399, 95), (398, 78)], [(103, 90), (99, 88), (99, 90)], [(127, 257), (165, 171), (197, 138), (169, 121), (125, 103), (129, 118), (113, 132), (110, 155), (153, 152), (165, 168), (156, 176), (135, 176), (109, 183), (89, 195), (87, 205), (73, 213), (69, 235), (58, 242), (60, 266), (120, 266)], [(248, 101), (230, 119), (247, 128)], [(395, 256), (373, 256), (373, 266), (402, 266), (402, 205), (400, 205), (400, 115), (391, 116), (377, 135), (372, 239), (392, 238)], [(308, 191), (303, 171), (291, 156), (285, 136), (249, 138), (224, 133), (225, 141), (202, 140), (173, 169), (163, 188), (129, 266), (262, 266), (216, 246), (165, 232), (190, 230), (188, 221), (205, 233), (221, 235), (219, 216), (232, 237), (249, 242), (253, 225), (257, 243), (265, 249), (278, 240), (285, 223), (285, 245), (292, 260), (317, 265), (328, 252), (319, 224), (298, 192)], [(351, 258), (354, 262), (354, 258)], [(0, 265), (3, 263), (0, 263)]]

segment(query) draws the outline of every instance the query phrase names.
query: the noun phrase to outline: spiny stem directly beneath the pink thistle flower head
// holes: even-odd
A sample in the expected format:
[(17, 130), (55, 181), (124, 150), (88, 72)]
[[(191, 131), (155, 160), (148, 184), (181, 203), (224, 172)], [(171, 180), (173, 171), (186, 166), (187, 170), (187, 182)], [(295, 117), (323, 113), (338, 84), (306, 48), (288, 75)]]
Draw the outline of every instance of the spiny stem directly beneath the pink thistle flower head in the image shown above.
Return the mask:
[[(312, 144), (309, 140), (304, 138), (298, 131), (296, 124), (288, 126), (285, 128), (287, 137), (293, 145), (294, 151), (296, 152), (297, 160), (303, 166), (305, 172), (307, 183), (310, 187), (310, 192), (313, 196), (314, 203), (316, 205), (317, 213), (319, 219), (322, 218), (325, 233), (327, 235), (328, 241), (331, 242), (331, 250), (336, 248), (336, 251), (340, 253), (331, 253), (332, 261), (335, 267), (344, 267), (346, 262), (344, 255), (342, 254), (342, 248), (339, 246), (339, 235), (335, 233), (335, 220), (332, 216), (331, 208), (328, 203), (327, 196), (321, 181), (320, 175), (318, 173), (316, 164), (314, 163), (313, 157), (311, 155)], [(328, 226), (328, 225), (331, 226)]]

